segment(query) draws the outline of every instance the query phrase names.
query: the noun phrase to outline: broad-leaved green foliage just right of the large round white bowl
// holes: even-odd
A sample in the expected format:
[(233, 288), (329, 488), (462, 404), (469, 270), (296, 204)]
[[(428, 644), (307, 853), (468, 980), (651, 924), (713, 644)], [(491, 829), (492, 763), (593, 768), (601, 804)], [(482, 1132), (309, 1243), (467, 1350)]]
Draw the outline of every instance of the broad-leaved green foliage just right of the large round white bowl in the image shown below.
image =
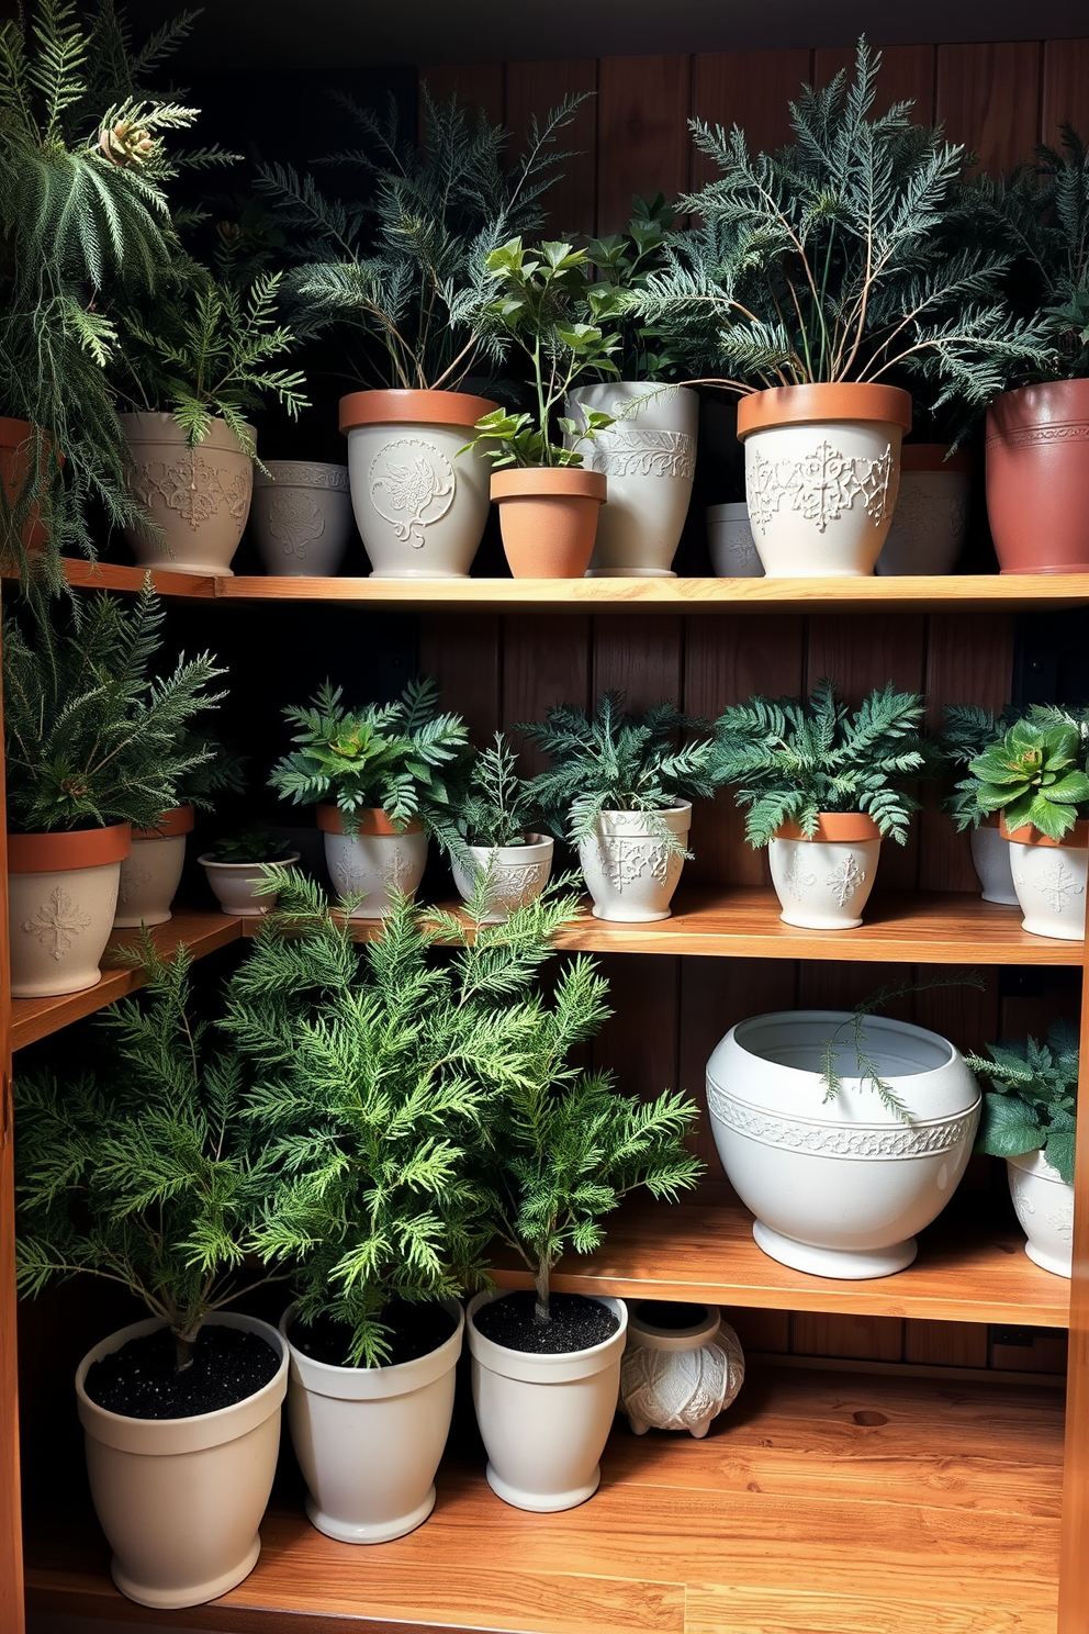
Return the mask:
[(1025, 1038), (986, 1049), (986, 1056), (967, 1057), (971, 1070), (991, 1083), (983, 1095), (976, 1152), (991, 1157), (1043, 1152), (1071, 1186), (1078, 1131), (1076, 1029), (1060, 1021), (1050, 1029), (1047, 1044)]

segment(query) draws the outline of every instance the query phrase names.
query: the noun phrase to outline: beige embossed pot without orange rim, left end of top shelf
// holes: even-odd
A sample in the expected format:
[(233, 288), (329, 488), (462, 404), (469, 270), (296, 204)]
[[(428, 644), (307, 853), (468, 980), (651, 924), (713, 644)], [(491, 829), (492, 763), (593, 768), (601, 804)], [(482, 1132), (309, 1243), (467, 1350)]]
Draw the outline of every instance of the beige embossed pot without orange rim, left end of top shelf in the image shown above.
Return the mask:
[[(188, 448), (170, 413), (118, 415), (132, 449), (129, 493), (150, 515), (153, 536), (126, 528), (139, 567), (230, 578), (253, 498), (253, 461), (225, 420)], [(256, 440), (253, 426), (247, 426)]]

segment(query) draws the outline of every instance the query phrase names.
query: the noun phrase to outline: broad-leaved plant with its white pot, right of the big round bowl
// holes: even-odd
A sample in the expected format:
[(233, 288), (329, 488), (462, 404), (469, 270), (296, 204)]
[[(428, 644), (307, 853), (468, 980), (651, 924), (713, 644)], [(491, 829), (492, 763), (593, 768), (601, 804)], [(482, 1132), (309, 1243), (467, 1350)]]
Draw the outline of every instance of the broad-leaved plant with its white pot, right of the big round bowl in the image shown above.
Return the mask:
[(1069, 1276), (1074, 1250), (1074, 1136), (1078, 1033), (1056, 1023), (1035, 1038), (988, 1044), (968, 1065), (991, 1085), (983, 1095), (976, 1152), (1004, 1157), (1025, 1253)]

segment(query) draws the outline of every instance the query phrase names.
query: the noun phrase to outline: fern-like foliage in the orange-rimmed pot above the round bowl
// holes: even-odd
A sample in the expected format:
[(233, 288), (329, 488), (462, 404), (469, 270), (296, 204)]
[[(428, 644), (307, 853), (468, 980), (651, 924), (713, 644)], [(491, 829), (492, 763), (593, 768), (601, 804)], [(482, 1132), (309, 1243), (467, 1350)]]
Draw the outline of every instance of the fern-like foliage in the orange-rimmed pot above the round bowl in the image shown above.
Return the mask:
[(865, 812), (882, 835), (905, 845), (919, 802), (905, 788), (927, 771), (919, 734), (924, 701), (891, 681), (852, 712), (821, 680), (808, 699), (749, 698), (715, 722), (713, 771), (748, 810), (756, 850), (787, 822), (807, 838), (821, 812)]

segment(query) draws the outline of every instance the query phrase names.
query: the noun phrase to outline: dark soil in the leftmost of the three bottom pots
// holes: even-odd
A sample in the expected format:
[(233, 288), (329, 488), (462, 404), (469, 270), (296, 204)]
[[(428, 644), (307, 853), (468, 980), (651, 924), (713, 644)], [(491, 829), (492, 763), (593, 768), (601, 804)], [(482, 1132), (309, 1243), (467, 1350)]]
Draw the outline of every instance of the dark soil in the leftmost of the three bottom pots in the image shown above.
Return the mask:
[(202, 1327), (193, 1366), (176, 1373), (173, 1335), (160, 1328), (91, 1363), (83, 1389), (100, 1407), (126, 1418), (191, 1418), (255, 1395), (274, 1377), (279, 1361), (260, 1333)]

